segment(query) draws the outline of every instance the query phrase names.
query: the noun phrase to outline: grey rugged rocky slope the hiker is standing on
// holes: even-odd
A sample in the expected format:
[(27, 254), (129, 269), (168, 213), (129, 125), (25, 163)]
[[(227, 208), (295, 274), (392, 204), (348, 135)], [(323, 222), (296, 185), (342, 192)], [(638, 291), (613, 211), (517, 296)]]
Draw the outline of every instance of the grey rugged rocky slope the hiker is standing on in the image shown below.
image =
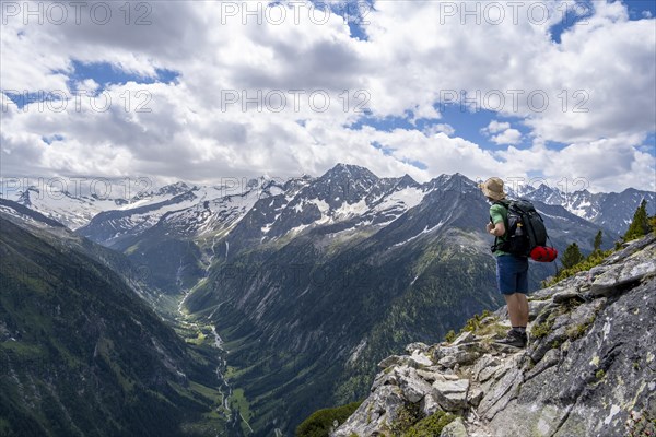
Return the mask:
[(372, 394), (332, 436), (397, 435), (412, 404), (459, 416), (442, 436), (654, 435), (656, 237), (529, 298), (526, 350), (494, 343), (504, 309), (450, 344), (410, 345), (380, 363)]

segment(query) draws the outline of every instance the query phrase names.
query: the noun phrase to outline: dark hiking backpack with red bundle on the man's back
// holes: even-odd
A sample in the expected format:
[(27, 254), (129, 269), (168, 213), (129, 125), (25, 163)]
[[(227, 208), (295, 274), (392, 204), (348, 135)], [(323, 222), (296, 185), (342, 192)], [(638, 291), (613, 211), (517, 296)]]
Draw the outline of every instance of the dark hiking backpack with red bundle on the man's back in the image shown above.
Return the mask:
[(506, 208), (508, 214), (507, 223), (505, 223), (505, 241), (499, 241), (499, 238), (495, 238), (492, 252), (502, 250), (522, 257), (530, 256), (536, 261), (546, 262), (555, 259), (558, 252), (555, 249), (547, 247), (547, 238), (549, 238), (547, 227), (532, 203), (524, 199), (495, 203)]

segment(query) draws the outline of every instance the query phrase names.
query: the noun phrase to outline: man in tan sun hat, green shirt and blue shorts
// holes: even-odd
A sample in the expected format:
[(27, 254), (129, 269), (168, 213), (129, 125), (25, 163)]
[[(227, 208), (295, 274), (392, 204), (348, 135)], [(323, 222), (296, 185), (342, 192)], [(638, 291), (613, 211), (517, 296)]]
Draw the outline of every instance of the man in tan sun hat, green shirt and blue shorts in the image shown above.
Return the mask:
[[(501, 243), (507, 238), (508, 202), (503, 190), (503, 180), (492, 177), (479, 185), (483, 194), (491, 203), (490, 223), (488, 233), (494, 235)], [(507, 344), (515, 347), (526, 347), (528, 338), (526, 326), (528, 324), (528, 258), (504, 252), (494, 251), (496, 258), (496, 284), (499, 292), (503, 294), (508, 306), (512, 329), (503, 340), (496, 343)]]

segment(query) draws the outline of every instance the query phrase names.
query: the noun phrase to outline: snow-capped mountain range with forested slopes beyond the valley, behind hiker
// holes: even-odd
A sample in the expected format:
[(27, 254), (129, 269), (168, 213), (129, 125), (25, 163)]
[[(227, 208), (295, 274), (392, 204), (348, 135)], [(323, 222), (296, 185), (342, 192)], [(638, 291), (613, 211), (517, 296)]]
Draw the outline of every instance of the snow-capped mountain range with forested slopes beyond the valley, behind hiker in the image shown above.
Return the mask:
[[(338, 164), (316, 178), (178, 182), (130, 199), (36, 194), (12, 192), (0, 211), (36, 211), (119, 252), (148, 273), (140, 295), (168, 323), (216, 333), (245, 435), (289, 435), (318, 408), (362, 399), (379, 359), (502, 304), (489, 204), (459, 174), (419, 184)], [(561, 252), (591, 251), (599, 229), (611, 247), (642, 199), (654, 214), (655, 193), (632, 189), (512, 194), (534, 201)], [(554, 269), (532, 263), (531, 288)]]

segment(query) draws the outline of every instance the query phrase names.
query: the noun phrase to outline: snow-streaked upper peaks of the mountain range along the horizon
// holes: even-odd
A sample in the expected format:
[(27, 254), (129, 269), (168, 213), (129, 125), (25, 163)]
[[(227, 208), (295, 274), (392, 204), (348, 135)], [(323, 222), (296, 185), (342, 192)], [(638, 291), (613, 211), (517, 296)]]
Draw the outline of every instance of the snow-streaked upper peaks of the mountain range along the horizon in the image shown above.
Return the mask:
[[(419, 184), (407, 174), (379, 178), (365, 167), (343, 163), (319, 177), (302, 175), (283, 180), (262, 175), (200, 186), (177, 181), (132, 197), (121, 196), (129, 188), (125, 181), (93, 180), (95, 185), (86, 184), (90, 192), (75, 194), (66, 189), (57, 191), (56, 187), (28, 186), (21, 191), (14, 189), (10, 200), (72, 229), (90, 225), (84, 229), (85, 235), (114, 244), (132, 238), (161, 221), (163, 235), (168, 229), (194, 238), (215, 233), (227, 235), (246, 218), (251, 225), (244, 229), (245, 235), (259, 239), (262, 235), (283, 236), (290, 229), (315, 225), (347, 229), (390, 223), (420, 203), (441, 202), (445, 192), (452, 202), (457, 199), (454, 193), (458, 198), (480, 196), (478, 185), (459, 173)], [(635, 189), (608, 194), (581, 190), (565, 196), (546, 184), (535, 187), (508, 182), (506, 191), (512, 198), (563, 206), (613, 232), (625, 228), (643, 198), (647, 199), (649, 211), (656, 201), (655, 193)]]

